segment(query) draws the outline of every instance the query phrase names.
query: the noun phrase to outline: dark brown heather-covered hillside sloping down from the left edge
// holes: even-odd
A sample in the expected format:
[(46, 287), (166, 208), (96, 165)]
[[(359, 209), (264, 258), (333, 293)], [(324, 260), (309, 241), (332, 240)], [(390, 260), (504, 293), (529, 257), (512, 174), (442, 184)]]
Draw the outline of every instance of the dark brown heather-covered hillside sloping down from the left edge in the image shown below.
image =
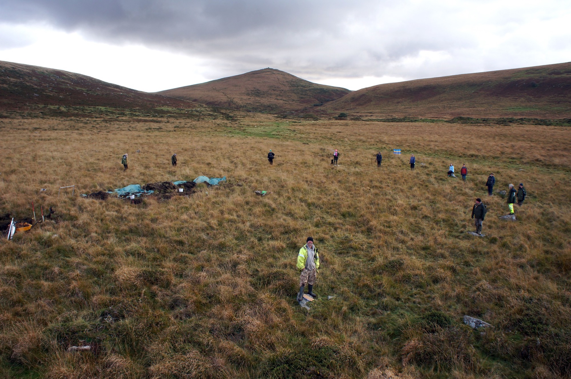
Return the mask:
[(74, 72), (0, 61), (0, 114), (93, 114), (97, 109), (156, 114), (196, 107), (198, 104), (187, 100), (136, 91)]

